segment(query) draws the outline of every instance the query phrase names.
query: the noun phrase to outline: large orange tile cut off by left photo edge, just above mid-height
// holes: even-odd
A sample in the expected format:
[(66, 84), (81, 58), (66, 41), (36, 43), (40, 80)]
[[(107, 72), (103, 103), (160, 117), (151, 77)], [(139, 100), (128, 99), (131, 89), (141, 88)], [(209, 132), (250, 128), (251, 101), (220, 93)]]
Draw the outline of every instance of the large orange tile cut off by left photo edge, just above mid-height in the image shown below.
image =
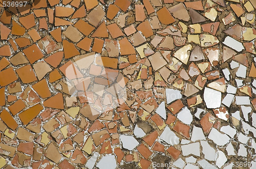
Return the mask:
[(18, 77), (15, 74), (13, 68), (8, 68), (0, 72), (0, 85), (6, 86), (9, 85), (11, 82), (17, 80)]

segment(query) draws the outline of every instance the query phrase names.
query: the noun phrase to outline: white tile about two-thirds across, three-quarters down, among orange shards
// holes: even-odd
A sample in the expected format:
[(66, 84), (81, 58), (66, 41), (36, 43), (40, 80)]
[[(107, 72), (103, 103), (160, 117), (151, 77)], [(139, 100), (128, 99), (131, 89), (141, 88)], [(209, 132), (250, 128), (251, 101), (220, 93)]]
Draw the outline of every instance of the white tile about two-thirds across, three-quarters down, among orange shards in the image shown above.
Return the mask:
[(168, 126), (164, 128), (162, 134), (160, 135), (160, 139), (164, 140), (164, 142), (172, 146), (178, 145), (180, 143), (179, 137), (177, 137), (177, 135), (172, 130), (170, 130)]

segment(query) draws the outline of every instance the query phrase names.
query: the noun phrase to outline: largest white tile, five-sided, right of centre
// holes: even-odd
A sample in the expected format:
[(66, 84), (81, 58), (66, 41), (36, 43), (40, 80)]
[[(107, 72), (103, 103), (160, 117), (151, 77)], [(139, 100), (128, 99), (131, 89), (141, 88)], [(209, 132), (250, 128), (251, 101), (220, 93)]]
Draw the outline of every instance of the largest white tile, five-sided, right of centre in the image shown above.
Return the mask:
[(219, 108), (221, 106), (221, 92), (204, 88), (204, 101), (207, 108)]

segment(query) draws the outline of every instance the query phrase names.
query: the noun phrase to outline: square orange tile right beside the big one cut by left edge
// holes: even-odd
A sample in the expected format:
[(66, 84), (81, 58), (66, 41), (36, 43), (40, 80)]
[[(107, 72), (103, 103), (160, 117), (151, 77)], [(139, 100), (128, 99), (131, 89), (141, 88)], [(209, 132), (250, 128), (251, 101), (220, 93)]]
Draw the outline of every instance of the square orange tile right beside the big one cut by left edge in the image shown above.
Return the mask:
[(16, 72), (19, 78), (22, 79), (22, 82), (24, 83), (31, 83), (37, 80), (35, 73), (30, 65), (26, 65), (21, 68), (18, 68)]

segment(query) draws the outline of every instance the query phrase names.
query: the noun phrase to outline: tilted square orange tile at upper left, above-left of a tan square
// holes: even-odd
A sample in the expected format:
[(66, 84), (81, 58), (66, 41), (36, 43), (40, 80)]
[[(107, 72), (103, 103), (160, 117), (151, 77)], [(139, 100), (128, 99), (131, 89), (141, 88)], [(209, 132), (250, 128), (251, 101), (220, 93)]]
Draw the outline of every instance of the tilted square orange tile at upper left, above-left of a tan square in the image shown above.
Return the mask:
[(31, 64), (44, 57), (41, 50), (36, 46), (36, 44), (27, 47), (23, 50), (23, 52)]

